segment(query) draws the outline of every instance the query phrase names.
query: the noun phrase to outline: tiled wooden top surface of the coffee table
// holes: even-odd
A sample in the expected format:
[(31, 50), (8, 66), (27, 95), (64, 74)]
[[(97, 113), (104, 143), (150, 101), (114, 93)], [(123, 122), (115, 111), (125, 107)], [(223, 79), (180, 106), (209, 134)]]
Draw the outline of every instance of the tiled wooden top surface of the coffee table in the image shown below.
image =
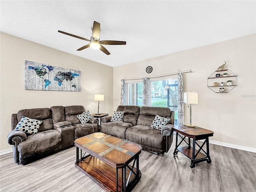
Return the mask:
[(141, 150), (141, 146), (101, 132), (78, 138), (75, 142), (116, 164), (128, 161)]

